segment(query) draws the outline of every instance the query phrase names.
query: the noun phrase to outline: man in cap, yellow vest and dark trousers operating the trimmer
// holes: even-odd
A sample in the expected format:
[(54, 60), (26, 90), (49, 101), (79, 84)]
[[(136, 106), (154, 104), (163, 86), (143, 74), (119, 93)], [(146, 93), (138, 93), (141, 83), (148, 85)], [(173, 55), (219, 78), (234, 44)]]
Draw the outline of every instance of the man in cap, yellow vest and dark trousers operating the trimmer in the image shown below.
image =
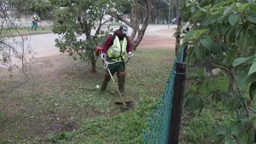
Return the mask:
[[(126, 25), (121, 25), (119, 29), (115, 30), (113, 34), (109, 34), (107, 40), (103, 44), (101, 58), (108, 62), (121, 61), (109, 65), (109, 71), (113, 76), (117, 72), (118, 76), (118, 86), (119, 92), (122, 96), (125, 95), (124, 85), (125, 85), (125, 51), (128, 53), (129, 57), (132, 57), (131, 42), (127, 37), (128, 27)], [(101, 85), (101, 92), (106, 90), (108, 82), (110, 81), (110, 74), (106, 70), (104, 75), (104, 80)]]

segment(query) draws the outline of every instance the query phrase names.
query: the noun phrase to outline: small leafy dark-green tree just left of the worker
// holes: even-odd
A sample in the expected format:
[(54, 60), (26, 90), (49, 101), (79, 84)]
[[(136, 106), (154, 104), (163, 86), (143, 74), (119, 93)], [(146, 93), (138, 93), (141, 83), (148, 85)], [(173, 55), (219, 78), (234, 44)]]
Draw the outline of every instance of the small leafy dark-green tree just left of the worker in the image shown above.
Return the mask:
[[(110, 1), (63, 1), (67, 7), (56, 8), (53, 13), (55, 34), (63, 33), (63, 37), (55, 39), (56, 47), (61, 52), (68, 50), (74, 59), (80, 57), (82, 61), (91, 62), (91, 71), (96, 72), (96, 58), (94, 50), (102, 45), (109, 31), (103, 31), (103, 16), (110, 8)], [(98, 26), (96, 25), (98, 22)], [(95, 34), (92, 35), (93, 29)], [(78, 55), (75, 55), (77, 53)]]

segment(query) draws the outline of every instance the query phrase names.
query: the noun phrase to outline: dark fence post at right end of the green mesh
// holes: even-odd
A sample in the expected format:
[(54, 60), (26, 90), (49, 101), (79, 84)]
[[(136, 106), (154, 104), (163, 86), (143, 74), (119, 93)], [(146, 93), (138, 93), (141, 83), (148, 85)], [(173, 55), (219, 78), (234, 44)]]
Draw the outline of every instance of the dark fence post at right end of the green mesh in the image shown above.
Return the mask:
[(168, 144), (176, 144), (179, 142), (186, 64), (183, 62), (176, 62), (175, 73)]

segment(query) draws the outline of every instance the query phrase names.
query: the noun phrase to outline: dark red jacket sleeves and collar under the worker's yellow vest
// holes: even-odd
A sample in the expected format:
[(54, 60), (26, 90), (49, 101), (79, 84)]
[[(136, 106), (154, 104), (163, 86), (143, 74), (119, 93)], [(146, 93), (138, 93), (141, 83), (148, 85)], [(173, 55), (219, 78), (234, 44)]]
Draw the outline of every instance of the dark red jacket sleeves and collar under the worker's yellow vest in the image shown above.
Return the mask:
[[(118, 35), (118, 29), (115, 30), (115, 35), (118, 36), (119, 40), (123, 40), (124, 38), (122, 38), (120, 35)], [(103, 50), (102, 53), (107, 53), (108, 48), (111, 46), (110, 43), (112, 41), (112, 34), (108, 35), (107, 40), (105, 41), (105, 43), (103, 44)], [(127, 46), (126, 46), (126, 52), (131, 52), (131, 41), (130, 39), (127, 39)]]

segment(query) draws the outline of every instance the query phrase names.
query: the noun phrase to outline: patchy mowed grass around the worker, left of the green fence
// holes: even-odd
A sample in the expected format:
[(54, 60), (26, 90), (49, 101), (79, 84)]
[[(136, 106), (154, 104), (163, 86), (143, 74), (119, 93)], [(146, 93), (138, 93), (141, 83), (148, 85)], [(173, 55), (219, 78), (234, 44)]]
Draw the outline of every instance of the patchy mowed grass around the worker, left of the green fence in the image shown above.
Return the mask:
[[(134, 102), (128, 112), (114, 105), (120, 99), (112, 81), (104, 93), (96, 88), (104, 75), (100, 59), (97, 73), (91, 74), (89, 63), (73, 61), (67, 55), (54, 58), (53, 63), (61, 68), (53, 70), (49, 58), (37, 59), (36, 65), (31, 64), (30, 80), (9, 94), (12, 104), (5, 106), (0, 115), (0, 143), (143, 142), (142, 130), (148, 128), (147, 118), (156, 108), (173, 65), (172, 49), (134, 52), (126, 64), (125, 99)], [(25, 80), (18, 75), (13, 79)], [(116, 75), (114, 79), (117, 82)], [(13, 82), (5, 83), (19, 83)]]

